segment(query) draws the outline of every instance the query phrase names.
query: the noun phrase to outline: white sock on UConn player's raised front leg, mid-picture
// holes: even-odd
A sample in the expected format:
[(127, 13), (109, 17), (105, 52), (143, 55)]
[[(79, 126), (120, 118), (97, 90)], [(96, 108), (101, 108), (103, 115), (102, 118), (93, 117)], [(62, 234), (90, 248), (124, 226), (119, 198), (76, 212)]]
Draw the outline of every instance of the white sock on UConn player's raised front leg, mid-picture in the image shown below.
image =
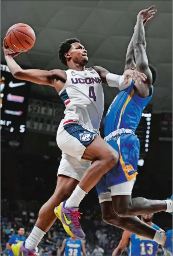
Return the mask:
[(79, 187), (79, 185), (77, 185), (72, 195), (69, 197), (69, 199), (67, 199), (65, 207), (66, 208), (79, 207), (80, 202), (87, 194), (88, 194), (87, 192), (85, 192), (83, 189)]

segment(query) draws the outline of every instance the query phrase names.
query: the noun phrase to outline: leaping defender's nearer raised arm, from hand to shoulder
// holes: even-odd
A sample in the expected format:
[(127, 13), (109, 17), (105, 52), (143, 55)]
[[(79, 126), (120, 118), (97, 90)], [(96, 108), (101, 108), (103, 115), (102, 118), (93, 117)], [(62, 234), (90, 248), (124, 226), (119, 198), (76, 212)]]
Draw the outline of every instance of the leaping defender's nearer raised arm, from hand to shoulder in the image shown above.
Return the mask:
[(156, 10), (152, 10), (154, 6), (142, 10), (137, 15), (137, 22), (134, 29), (134, 35), (133, 35), (133, 48), (134, 48), (134, 57), (135, 57), (135, 63), (136, 63), (136, 69), (139, 72), (143, 72), (147, 79), (145, 83), (148, 86), (151, 86), (152, 83), (152, 73), (148, 66), (148, 59), (146, 55), (146, 41), (145, 41), (145, 30), (144, 30), (144, 24), (143, 20), (149, 21), (153, 18), (153, 15), (155, 14)]

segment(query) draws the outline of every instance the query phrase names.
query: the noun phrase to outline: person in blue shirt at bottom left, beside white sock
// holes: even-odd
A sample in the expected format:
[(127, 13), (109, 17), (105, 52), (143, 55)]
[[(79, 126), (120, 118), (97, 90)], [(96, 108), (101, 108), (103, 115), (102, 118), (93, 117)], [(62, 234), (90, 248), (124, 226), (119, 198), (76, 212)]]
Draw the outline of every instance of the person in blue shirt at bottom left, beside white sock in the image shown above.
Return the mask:
[(8, 249), (8, 255), (9, 256), (14, 255), (13, 251), (12, 251), (12, 247), (11, 247), (11, 245), (13, 243), (18, 243), (20, 241), (25, 241), (26, 240), (26, 237), (24, 237), (24, 234), (25, 234), (25, 228), (21, 226), (18, 230), (18, 234), (10, 237), (9, 241), (6, 244), (6, 248)]

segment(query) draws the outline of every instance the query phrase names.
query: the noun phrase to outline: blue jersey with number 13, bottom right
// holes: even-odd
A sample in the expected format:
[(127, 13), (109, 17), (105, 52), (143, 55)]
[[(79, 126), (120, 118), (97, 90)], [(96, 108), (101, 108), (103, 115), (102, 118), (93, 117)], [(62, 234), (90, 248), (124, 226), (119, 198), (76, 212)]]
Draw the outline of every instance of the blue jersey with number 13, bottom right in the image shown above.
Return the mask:
[[(152, 227), (159, 230), (159, 227), (152, 224)], [(158, 252), (158, 243), (150, 240), (149, 238), (131, 234), (129, 245), (128, 245), (128, 255), (138, 256), (138, 255), (156, 255)]]

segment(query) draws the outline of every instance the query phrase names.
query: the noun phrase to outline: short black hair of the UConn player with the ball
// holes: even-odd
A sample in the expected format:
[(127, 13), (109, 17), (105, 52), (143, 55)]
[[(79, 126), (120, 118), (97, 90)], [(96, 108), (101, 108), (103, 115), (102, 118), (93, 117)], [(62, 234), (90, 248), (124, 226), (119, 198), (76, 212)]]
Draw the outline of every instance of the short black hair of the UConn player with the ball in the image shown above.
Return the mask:
[(61, 62), (67, 66), (67, 60), (64, 54), (70, 50), (72, 47), (71, 44), (73, 43), (80, 43), (80, 41), (77, 38), (70, 38), (66, 39), (64, 42), (62, 42), (59, 46), (58, 54)]

